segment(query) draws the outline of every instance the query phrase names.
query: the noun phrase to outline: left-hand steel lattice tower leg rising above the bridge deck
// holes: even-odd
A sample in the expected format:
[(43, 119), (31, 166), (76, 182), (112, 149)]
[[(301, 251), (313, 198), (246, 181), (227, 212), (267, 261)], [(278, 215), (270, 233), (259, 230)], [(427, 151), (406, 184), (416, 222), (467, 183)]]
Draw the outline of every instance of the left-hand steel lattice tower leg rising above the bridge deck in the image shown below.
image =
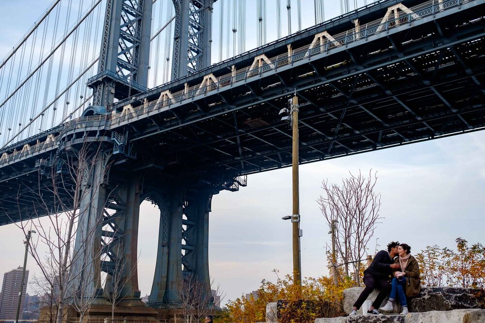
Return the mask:
[(93, 106), (146, 91), (150, 50), (151, 0), (108, 0), (98, 74), (88, 80)]

